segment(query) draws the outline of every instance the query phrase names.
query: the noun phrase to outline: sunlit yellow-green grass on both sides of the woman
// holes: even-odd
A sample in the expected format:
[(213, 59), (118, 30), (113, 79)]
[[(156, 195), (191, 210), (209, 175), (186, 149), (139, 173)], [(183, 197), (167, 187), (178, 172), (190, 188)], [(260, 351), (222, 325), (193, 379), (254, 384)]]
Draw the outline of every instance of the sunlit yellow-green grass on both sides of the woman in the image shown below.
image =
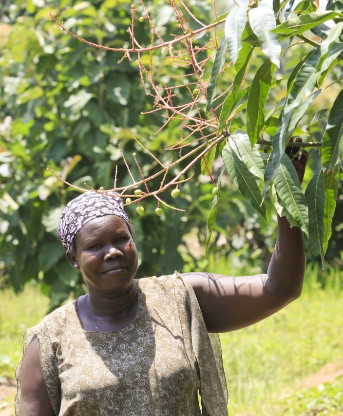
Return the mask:
[[(282, 400), (283, 406), (295, 403), (300, 409), (301, 397), (309, 401), (313, 392), (286, 399), (294, 395), (300, 380), (328, 362), (343, 360), (342, 292), (332, 290), (337, 282), (325, 291), (315, 282), (308, 283), (314, 279), (309, 272), (300, 299), (255, 325), (221, 334), (229, 415), (279, 416), (285, 409)], [(37, 286), (26, 286), (19, 295), (9, 289), (2, 291), (0, 377), (14, 377), (22, 355), (22, 334), (41, 320), (48, 303)], [(289, 409), (285, 415), (293, 414)]]

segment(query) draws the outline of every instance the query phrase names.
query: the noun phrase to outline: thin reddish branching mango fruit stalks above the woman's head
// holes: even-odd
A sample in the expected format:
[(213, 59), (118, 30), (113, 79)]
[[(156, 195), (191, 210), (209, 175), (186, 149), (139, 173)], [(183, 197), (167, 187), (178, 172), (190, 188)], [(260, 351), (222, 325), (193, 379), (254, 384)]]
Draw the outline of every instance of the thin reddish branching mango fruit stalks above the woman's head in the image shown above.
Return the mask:
[[(176, 2), (174, 0), (169, 0), (169, 4), (172, 7), (176, 21), (177, 26), (179, 29), (181, 29), (182, 34), (174, 35), (171, 34), (172, 39), (165, 41), (163, 40), (162, 36), (159, 35), (155, 25), (152, 22), (152, 19), (148, 13), (147, 8), (145, 7), (144, 0), (140, 0), (141, 5), (144, 10), (144, 16), (142, 16), (144, 19), (147, 19), (147, 21), (150, 24), (151, 27), (151, 45), (148, 47), (143, 47), (139, 43), (139, 41), (135, 38), (135, 31), (134, 31), (134, 25), (136, 20), (136, 12), (138, 9), (134, 5), (131, 7), (132, 12), (132, 20), (131, 20), (131, 26), (128, 27), (128, 33), (131, 37), (131, 48), (112, 48), (104, 45), (100, 45), (94, 42), (90, 42), (86, 39), (80, 38), (75, 33), (71, 32), (70, 30), (67, 30), (66, 27), (59, 22), (56, 19), (56, 15), (54, 13), (49, 13), (50, 18), (54, 20), (58, 26), (74, 38), (78, 39), (79, 41), (93, 46), (95, 48), (103, 49), (106, 51), (112, 51), (112, 52), (119, 52), (122, 53), (122, 57), (119, 60), (121, 62), (123, 59), (128, 58), (131, 60), (132, 53), (137, 54), (137, 65), (139, 69), (139, 76), (142, 84), (142, 88), (144, 89), (145, 93), (147, 95), (150, 95), (154, 99), (153, 109), (148, 112), (144, 112), (143, 114), (149, 114), (149, 113), (160, 113), (163, 118), (166, 119), (164, 124), (154, 133), (153, 136), (156, 136), (159, 132), (161, 132), (167, 125), (171, 122), (171, 120), (180, 120), (180, 139), (177, 140), (177, 142), (170, 146), (167, 151), (179, 151), (179, 157), (177, 160), (172, 162), (172, 158), (170, 160), (169, 165), (166, 167), (157, 157), (155, 157), (133, 134), (133, 138), (136, 141), (136, 143), (142, 147), (142, 149), (148, 153), (158, 164), (162, 166), (162, 169), (149, 176), (145, 177), (143, 174), (143, 171), (136, 159), (136, 157), (133, 155), (134, 161), (136, 163), (136, 166), (139, 170), (139, 173), (141, 175), (140, 181), (135, 181), (133, 178), (133, 174), (129, 168), (129, 165), (126, 161), (126, 158), (124, 156), (123, 151), (121, 150), (119, 146), (119, 151), (121, 152), (124, 164), (126, 166), (126, 169), (132, 179), (132, 184), (130, 186), (126, 187), (116, 187), (117, 182), (117, 166), (115, 168), (115, 177), (114, 177), (114, 189), (109, 190), (103, 190), (103, 189), (94, 189), (96, 192), (99, 193), (105, 193), (107, 194), (110, 191), (117, 191), (120, 192), (120, 196), (122, 197), (129, 197), (133, 198), (133, 201), (131, 203), (140, 203), (141, 200), (147, 197), (154, 197), (157, 200), (157, 206), (162, 203), (163, 205), (176, 209), (179, 211), (183, 211), (182, 209), (171, 207), (166, 202), (164, 202), (161, 199), (160, 194), (163, 193), (166, 189), (169, 187), (178, 186), (180, 183), (183, 183), (185, 181), (188, 181), (192, 178), (192, 175), (189, 175), (186, 177), (186, 179), (181, 179), (183, 176), (185, 176), (189, 170), (193, 168), (193, 166), (200, 162), (201, 159), (203, 159), (206, 170), (209, 174), (210, 180), (215, 186), (214, 179), (212, 177), (210, 168), (206, 161), (206, 153), (210, 151), (214, 146), (216, 146), (220, 141), (224, 139), (224, 134), (217, 134), (218, 130), (218, 117), (216, 114), (216, 110), (219, 109), (223, 101), (227, 95), (227, 92), (229, 88), (231, 88), (231, 85), (219, 94), (215, 98), (215, 106), (210, 109), (211, 118), (207, 119), (205, 118), (204, 114), (204, 107), (206, 104), (206, 88), (209, 83), (208, 79), (203, 79), (204, 74), (208, 73), (206, 71), (206, 64), (214, 57), (215, 53), (213, 54), (211, 50), (218, 49), (218, 39), (216, 34), (216, 27), (225, 21), (225, 19), (221, 19), (219, 21), (215, 21), (214, 23), (211, 23), (209, 25), (205, 25), (203, 22), (201, 22), (199, 19), (197, 19), (189, 7), (186, 5), (185, 1), (180, 0), (181, 8), (179, 8), (176, 5)], [(215, 9), (215, 3), (213, 2), (214, 6), (214, 15), (217, 19), (217, 11)], [(183, 13), (184, 11), (184, 13)], [(191, 19), (191, 23), (187, 21), (184, 18), (184, 14)], [(197, 25), (200, 24), (201, 28), (192, 30), (191, 24), (193, 22), (196, 22)], [(210, 38), (208, 41), (204, 42), (203, 46), (194, 46), (193, 41), (196, 35), (199, 35), (200, 33), (205, 31), (205, 36), (207, 36), (209, 33), (212, 32), (212, 29), (214, 29), (214, 37)], [(156, 44), (156, 39), (158, 43)], [(173, 50), (173, 45), (177, 48), (176, 50)], [(170, 65), (175, 65), (178, 67), (185, 67), (190, 66), (191, 71), (189, 74), (181, 74), (181, 75), (174, 75), (169, 76), (170, 79), (177, 80), (179, 78), (182, 78), (179, 85), (166, 85), (163, 84), (162, 86), (158, 85), (157, 80), (154, 79), (154, 74), (152, 71), (152, 53), (156, 53), (156, 51), (160, 51), (162, 59), (165, 59), (166, 62)], [(143, 65), (141, 60), (141, 54), (144, 52), (150, 53), (150, 59), (149, 59), (149, 67), (145, 67)], [(220, 74), (224, 73), (225, 70), (231, 65), (232, 62), (229, 62), (226, 64), (220, 71)], [(150, 85), (149, 88), (147, 88), (147, 85)], [(183, 103), (182, 104), (176, 104), (177, 99), (177, 91), (179, 90), (179, 94), (182, 93), (183, 96)], [(196, 91), (196, 90), (198, 91)], [(188, 97), (188, 99), (187, 99)], [(234, 117), (235, 114), (232, 116)], [(187, 132), (187, 133), (185, 133)], [(213, 137), (214, 136), (214, 137)], [(152, 138), (151, 137), (151, 138)], [(271, 144), (267, 141), (260, 141), (258, 143), (261, 144)], [(296, 146), (297, 142), (293, 142), (292, 145)], [(301, 144), (304, 146), (304, 143)], [(317, 146), (319, 144), (309, 144), (310, 146)], [(184, 148), (190, 147), (190, 151), (188, 151), (185, 155), (182, 156), (181, 151)], [(171, 178), (167, 182), (167, 177), (171, 175), (171, 168), (179, 165), (184, 160), (189, 159), (189, 162), (187, 166), (181, 170), (176, 176)], [(48, 167), (49, 170), (51, 170)], [(71, 186), (77, 190), (85, 191), (87, 189), (93, 189), (87, 184), (85, 184), (85, 188), (76, 187), (68, 182), (66, 182), (62, 177), (60, 177), (56, 172), (51, 170), (57, 178), (59, 178), (61, 181), (63, 181), (68, 186)], [(163, 177), (162, 177), (163, 175)], [(152, 179), (155, 179), (157, 177), (161, 176), (162, 180), (158, 187), (158, 189), (151, 191), (148, 187), (149, 181)], [(144, 184), (146, 192), (143, 192), (142, 195), (135, 195), (127, 193), (128, 189), (133, 189), (141, 184)]]

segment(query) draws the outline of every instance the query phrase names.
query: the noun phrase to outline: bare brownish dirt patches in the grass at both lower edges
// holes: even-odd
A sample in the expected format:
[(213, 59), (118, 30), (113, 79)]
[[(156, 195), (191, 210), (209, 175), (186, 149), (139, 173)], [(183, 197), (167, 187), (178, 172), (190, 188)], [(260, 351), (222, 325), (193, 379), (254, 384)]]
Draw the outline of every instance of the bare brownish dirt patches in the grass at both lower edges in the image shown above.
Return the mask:
[[(319, 371), (305, 378), (298, 386), (297, 390), (314, 387), (324, 382), (332, 383), (336, 377), (343, 375), (343, 361), (330, 362), (325, 364)], [(5, 380), (0, 383), (0, 408), (8, 403), (6, 407), (0, 410), (0, 416), (14, 416), (13, 401), (17, 388), (14, 380)], [(238, 416), (238, 415), (236, 415)]]

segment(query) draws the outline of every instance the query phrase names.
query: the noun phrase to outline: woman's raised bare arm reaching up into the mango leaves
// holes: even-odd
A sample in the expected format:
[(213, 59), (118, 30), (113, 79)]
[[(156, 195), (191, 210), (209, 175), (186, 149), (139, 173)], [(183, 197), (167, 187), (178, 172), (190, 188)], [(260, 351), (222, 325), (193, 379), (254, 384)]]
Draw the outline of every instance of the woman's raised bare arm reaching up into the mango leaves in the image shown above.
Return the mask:
[[(294, 161), (302, 181), (307, 160)], [(302, 231), (278, 216), (278, 237), (266, 274), (231, 277), (186, 273), (209, 332), (228, 332), (260, 321), (301, 294), (305, 274)]]

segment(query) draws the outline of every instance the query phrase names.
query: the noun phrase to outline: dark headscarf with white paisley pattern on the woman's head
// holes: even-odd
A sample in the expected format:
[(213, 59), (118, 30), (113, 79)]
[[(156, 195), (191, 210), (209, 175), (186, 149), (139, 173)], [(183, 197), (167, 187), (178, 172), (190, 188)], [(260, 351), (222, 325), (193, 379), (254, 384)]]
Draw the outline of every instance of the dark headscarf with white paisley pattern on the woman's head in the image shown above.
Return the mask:
[[(117, 192), (111, 192), (119, 195)], [(73, 246), (77, 231), (89, 221), (104, 215), (117, 215), (129, 224), (123, 200), (94, 190), (87, 191), (71, 200), (63, 209), (58, 224), (58, 234), (66, 250)]]

